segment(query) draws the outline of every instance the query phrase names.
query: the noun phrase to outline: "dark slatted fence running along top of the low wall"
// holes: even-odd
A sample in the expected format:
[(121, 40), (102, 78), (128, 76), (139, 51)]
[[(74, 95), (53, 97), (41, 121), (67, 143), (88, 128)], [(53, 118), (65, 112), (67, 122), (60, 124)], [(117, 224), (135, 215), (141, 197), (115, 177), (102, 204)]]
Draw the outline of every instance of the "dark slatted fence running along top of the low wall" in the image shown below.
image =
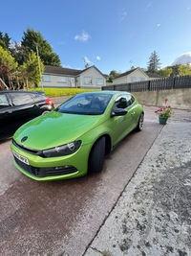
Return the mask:
[(191, 76), (111, 84), (102, 86), (101, 88), (102, 90), (118, 90), (129, 92), (191, 88)]

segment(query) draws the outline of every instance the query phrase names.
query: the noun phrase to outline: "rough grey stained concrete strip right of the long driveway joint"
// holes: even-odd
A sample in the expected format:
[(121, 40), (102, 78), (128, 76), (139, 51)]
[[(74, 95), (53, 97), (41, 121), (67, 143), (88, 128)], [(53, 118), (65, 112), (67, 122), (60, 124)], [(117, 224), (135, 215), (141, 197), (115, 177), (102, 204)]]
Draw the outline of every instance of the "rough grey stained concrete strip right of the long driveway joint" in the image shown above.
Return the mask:
[(175, 110), (84, 256), (191, 255), (191, 112)]

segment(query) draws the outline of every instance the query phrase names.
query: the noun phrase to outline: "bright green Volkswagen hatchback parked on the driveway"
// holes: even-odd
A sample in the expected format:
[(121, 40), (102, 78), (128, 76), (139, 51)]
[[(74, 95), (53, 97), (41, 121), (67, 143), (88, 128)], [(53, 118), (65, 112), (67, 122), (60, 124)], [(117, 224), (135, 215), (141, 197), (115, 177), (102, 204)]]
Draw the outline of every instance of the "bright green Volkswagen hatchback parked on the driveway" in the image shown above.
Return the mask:
[(105, 155), (133, 129), (141, 130), (143, 120), (142, 105), (128, 92), (77, 94), (16, 130), (13, 163), (35, 180), (101, 172)]

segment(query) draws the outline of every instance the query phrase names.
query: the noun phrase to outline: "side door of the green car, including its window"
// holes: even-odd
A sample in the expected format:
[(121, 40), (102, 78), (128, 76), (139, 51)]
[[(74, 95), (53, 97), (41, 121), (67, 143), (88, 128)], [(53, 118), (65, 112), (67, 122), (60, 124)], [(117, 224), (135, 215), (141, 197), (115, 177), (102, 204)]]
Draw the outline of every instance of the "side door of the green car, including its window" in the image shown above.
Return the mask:
[[(120, 95), (117, 97), (115, 104), (113, 105), (113, 111), (119, 108), (127, 110), (127, 113), (122, 116), (114, 116), (113, 126), (113, 145), (115, 146), (125, 135), (132, 130), (134, 112), (129, 107), (129, 95)], [(128, 109), (129, 108), (129, 109)]]

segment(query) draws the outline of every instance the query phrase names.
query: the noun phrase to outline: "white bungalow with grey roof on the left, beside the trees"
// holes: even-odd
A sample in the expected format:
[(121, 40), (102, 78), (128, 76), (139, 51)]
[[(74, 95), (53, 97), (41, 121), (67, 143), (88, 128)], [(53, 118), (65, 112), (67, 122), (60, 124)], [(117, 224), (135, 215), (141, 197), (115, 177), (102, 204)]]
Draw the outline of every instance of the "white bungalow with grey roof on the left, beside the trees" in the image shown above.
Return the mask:
[(96, 66), (89, 65), (83, 70), (45, 65), (42, 77), (43, 87), (101, 88), (106, 85), (105, 76)]

